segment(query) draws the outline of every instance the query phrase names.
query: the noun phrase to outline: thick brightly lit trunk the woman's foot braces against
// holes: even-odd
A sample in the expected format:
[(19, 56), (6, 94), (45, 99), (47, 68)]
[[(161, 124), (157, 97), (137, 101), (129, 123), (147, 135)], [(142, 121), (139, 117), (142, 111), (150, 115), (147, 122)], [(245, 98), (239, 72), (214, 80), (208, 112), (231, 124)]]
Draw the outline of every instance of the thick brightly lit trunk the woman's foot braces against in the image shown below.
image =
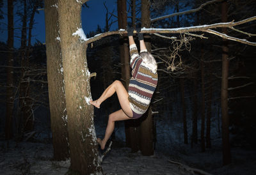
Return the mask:
[(90, 72), (87, 66), (81, 8), (86, 1), (58, 0), (61, 54), (68, 117), (70, 171), (102, 173), (93, 123)]

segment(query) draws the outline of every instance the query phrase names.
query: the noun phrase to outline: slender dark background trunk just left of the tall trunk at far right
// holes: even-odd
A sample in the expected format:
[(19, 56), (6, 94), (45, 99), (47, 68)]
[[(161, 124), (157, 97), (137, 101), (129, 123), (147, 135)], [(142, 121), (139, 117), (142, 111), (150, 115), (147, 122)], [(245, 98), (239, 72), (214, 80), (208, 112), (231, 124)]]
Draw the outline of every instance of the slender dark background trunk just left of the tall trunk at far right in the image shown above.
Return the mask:
[[(211, 75), (210, 82), (212, 80)], [(212, 116), (212, 83), (209, 84), (209, 98), (207, 102), (206, 148), (211, 148), (211, 116)]]

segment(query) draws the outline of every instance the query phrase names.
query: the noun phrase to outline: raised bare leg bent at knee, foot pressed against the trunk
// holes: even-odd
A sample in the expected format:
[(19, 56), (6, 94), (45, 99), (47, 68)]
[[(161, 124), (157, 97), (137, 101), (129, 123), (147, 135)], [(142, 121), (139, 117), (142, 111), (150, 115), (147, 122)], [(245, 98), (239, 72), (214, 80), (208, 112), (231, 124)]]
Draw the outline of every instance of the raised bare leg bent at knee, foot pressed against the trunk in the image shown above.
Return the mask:
[(128, 100), (129, 95), (126, 89), (124, 88), (122, 82), (120, 82), (119, 80), (115, 80), (115, 82), (113, 82), (111, 85), (108, 86), (107, 89), (105, 89), (105, 91), (102, 93), (100, 98), (98, 98), (95, 101), (91, 100), (90, 103), (95, 107), (99, 108), (100, 104), (104, 102), (107, 98), (112, 96), (115, 92), (116, 92), (116, 95), (118, 96), (118, 100), (122, 107), (123, 112), (127, 116), (132, 118), (132, 110), (130, 107), (130, 102)]

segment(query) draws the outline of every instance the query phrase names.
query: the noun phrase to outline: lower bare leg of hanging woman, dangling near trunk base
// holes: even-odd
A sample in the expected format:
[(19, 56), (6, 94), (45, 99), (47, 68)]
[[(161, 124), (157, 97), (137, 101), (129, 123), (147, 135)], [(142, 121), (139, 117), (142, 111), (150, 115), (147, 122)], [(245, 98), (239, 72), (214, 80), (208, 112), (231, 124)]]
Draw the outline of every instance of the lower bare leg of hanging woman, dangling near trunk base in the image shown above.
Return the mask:
[(105, 148), (106, 142), (108, 141), (109, 137), (113, 133), (113, 130), (115, 128), (115, 121), (126, 120), (126, 119), (131, 119), (131, 118), (129, 118), (122, 109), (117, 110), (116, 112), (113, 112), (112, 114), (109, 115), (108, 126), (106, 128), (104, 139), (102, 140), (99, 138), (97, 139), (97, 142), (99, 142), (101, 149)]

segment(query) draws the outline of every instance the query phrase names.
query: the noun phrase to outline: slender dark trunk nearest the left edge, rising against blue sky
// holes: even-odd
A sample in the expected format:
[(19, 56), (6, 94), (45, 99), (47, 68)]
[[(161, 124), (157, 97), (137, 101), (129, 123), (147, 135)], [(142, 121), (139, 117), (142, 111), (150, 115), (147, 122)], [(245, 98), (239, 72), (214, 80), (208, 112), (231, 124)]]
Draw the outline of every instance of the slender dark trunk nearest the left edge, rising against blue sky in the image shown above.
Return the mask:
[(13, 114), (13, 0), (8, 1), (8, 67), (6, 68), (6, 116), (5, 116), (5, 139), (13, 137), (12, 114)]

